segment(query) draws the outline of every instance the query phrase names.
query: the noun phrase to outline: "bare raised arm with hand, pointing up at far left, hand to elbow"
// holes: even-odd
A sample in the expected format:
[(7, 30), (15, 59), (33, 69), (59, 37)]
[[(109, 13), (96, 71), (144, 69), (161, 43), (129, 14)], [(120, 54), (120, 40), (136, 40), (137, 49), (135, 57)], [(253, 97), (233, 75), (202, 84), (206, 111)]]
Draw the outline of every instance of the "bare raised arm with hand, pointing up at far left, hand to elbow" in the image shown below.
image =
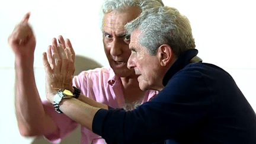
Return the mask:
[(55, 122), (46, 115), (34, 78), (36, 39), (28, 24), (30, 13), (14, 28), (8, 38), (15, 54), (15, 110), (21, 135), (47, 135), (55, 132)]

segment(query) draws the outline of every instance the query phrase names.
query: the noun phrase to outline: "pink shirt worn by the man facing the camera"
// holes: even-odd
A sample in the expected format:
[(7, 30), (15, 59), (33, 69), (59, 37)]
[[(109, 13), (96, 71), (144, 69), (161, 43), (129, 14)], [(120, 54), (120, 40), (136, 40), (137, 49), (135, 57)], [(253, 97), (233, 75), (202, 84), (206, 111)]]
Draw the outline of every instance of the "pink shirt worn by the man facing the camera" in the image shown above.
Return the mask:
[[(89, 71), (81, 72), (78, 76), (73, 78), (73, 85), (81, 89), (81, 93), (87, 95), (95, 101), (104, 103), (113, 108), (124, 107), (123, 86), (118, 76), (114, 74), (110, 67), (97, 68)], [(145, 98), (142, 103), (151, 100), (158, 94), (158, 91), (146, 91)], [(60, 143), (60, 141), (76, 129), (78, 123), (69, 119), (65, 114), (57, 114), (53, 105), (48, 101), (43, 101), (47, 114), (57, 122), (59, 131), (52, 135), (45, 136), (53, 143)], [(81, 143), (106, 143), (105, 140), (87, 128), (81, 126)]]

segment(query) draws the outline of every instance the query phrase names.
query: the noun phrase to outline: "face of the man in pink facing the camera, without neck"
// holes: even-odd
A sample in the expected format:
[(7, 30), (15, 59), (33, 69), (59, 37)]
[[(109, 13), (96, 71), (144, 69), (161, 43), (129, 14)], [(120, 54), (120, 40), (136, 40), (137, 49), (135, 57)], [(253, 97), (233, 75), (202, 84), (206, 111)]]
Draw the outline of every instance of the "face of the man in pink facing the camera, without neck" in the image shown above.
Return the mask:
[(124, 30), (124, 25), (140, 14), (137, 7), (130, 7), (130, 11), (111, 11), (103, 17), (104, 50), (111, 68), (119, 77), (135, 76), (133, 70), (127, 68), (130, 56), (130, 37)]

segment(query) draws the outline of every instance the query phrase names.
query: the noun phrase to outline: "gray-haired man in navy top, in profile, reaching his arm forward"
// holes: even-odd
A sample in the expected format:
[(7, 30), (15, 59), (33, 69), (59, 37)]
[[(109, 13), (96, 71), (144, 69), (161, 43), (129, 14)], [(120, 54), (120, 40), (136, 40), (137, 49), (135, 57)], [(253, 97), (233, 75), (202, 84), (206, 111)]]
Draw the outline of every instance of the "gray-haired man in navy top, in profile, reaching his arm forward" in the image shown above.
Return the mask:
[[(184, 15), (175, 8), (152, 8), (126, 28), (132, 50), (128, 68), (135, 69), (140, 89), (159, 94), (131, 111), (70, 98), (59, 106), (63, 113), (107, 143), (256, 143), (255, 112), (231, 75), (210, 63), (191, 62), (198, 51)], [(55, 68), (46, 58), (43, 62), (49, 78)], [(51, 103), (60, 88), (47, 89)], [(85, 110), (73, 108), (78, 105)]]

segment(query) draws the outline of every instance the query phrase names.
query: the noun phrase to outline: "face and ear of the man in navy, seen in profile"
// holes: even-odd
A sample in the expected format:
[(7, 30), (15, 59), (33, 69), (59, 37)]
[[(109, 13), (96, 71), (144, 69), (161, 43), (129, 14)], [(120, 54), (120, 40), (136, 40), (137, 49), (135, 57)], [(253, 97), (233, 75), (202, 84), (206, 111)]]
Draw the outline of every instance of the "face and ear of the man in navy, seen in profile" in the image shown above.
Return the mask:
[(140, 30), (136, 29), (131, 35), (129, 48), (132, 54), (127, 66), (129, 69), (135, 69), (140, 89), (161, 91), (164, 88), (162, 79), (176, 58), (167, 44), (161, 45), (156, 55), (150, 55), (146, 47), (139, 43), (138, 37), (140, 37)]

